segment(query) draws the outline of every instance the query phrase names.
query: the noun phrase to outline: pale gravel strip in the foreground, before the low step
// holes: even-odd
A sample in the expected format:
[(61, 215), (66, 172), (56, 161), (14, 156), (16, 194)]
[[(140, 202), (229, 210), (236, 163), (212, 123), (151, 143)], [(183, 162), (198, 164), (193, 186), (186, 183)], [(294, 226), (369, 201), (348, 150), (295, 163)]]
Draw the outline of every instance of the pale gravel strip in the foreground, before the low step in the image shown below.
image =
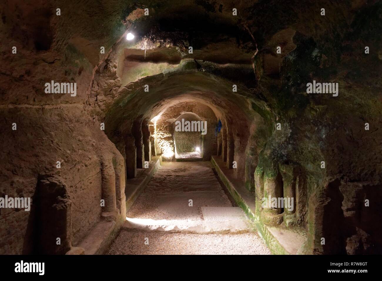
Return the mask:
[[(145, 244), (146, 241), (148, 241)], [(270, 255), (260, 237), (245, 234), (186, 234), (121, 231), (109, 255)]]

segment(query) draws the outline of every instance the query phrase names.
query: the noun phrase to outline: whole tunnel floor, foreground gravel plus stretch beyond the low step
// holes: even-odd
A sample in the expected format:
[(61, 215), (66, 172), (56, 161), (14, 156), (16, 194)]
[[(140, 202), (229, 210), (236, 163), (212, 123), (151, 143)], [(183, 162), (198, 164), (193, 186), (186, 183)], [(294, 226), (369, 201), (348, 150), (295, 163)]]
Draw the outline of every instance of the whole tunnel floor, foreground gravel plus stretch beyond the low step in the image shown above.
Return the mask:
[[(193, 206), (189, 206), (189, 199), (193, 200)], [(193, 223), (201, 222), (207, 224), (207, 227), (212, 227), (212, 224), (216, 222), (214, 220), (209, 222), (207, 217), (202, 216), (202, 210), (205, 207), (228, 209), (233, 207), (212, 170), (211, 162), (163, 162), (126, 216), (143, 220), (165, 220), (168, 224), (186, 220)], [(226, 209), (221, 209), (221, 211), (224, 210)], [(231, 222), (229, 217), (227, 219)], [(248, 221), (245, 216), (242, 220)], [(223, 226), (223, 222), (220, 225)], [(228, 225), (236, 226), (235, 223)], [(147, 242), (145, 244), (147, 241), (145, 238), (148, 238), (148, 245)], [(131, 227), (125, 227), (120, 232), (108, 253), (119, 255), (270, 254), (257, 233), (191, 234), (137, 230)]]

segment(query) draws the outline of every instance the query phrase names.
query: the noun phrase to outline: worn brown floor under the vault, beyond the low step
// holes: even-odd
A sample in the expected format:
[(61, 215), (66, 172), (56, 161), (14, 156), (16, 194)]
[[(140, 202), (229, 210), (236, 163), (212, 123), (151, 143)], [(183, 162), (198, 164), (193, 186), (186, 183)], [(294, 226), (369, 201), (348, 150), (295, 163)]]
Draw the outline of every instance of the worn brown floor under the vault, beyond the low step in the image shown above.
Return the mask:
[[(190, 199), (193, 207), (189, 206)], [(211, 162), (162, 162), (126, 216), (202, 220), (203, 206), (232, 206)]]

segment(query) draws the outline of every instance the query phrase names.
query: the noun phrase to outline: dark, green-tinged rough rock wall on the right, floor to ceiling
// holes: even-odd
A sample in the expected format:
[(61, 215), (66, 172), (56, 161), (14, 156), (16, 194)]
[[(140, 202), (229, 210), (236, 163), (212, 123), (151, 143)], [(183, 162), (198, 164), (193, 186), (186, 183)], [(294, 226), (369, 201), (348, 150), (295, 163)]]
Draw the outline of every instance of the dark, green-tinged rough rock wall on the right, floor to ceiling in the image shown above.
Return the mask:
[[(382, 6), (353, 4), (336, 16), (332, 11), (339, 3), (328, 5), (325, 18), (319, 13), (295, 11), (297, 32), (291, 42), (296, 48), (279, 60), (279, 68), (267, 56), (269, 50), (257, 55), (258, 66), (280, 80), (258, 76), (262, 94), (277, 118), (271, 118), (272, 136), (259, 155), (256, 190), (261, 193), (264, 182), (275, 181), (277, 163), (301, 168), (308, 207), (303, 216), (308, 241), (301, 253), (382, 252), (380, 236), (375, 235), (381, 224), (364, 216), (378, 217), (374, 207), (365, 206), (366, 199), (373, 198), (377, 206), (381, 201), (381, 166), (377, 162), (382, 123), (377, 112), (381, 112), (382, 42), (377, 30), (381, 28)], [(318, 5), (311, 3), (312, 7)], [(253, 8), (256, 17), (264, 16), (259, 7)], [(275, 15), (282, 13), (280, 8), (274, 10)], [(269, 13), (269, 9), (264, 11)], [(278, 24), (285, 27), (287, 22)], [(365, 54), (365, 46), (374, 52)], [(306, 83), (313, 80), (337, 82), (338, 96), (306, 94)], [(281, 124), (280, 131), (275, 130), (276, 123)], [(373, 128), (365, 130), (366, 123)], [(321, 161), (325, 168), (321, 168)], [(325, 238), (325, 245), (321, 245), (321, 238)]]

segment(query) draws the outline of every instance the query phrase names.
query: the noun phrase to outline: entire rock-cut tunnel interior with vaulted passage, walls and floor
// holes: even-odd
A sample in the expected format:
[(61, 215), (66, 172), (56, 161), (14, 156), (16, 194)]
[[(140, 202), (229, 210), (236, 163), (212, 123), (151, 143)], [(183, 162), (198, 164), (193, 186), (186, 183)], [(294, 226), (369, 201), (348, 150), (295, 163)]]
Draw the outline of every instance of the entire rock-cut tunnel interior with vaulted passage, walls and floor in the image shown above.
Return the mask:
[(1, 10), (1, 254), (382, 253), (381, 3), (40, 2)]

